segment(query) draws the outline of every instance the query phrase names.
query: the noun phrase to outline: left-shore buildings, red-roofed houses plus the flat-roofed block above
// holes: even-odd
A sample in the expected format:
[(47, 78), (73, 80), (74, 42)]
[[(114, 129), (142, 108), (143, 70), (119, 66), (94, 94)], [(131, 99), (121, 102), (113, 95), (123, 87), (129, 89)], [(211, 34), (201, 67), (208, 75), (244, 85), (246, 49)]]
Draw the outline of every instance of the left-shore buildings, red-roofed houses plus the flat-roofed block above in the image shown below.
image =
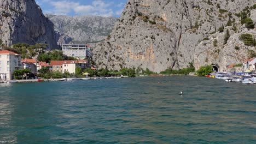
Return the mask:
[(22, 58), (18, 53), (1, 50), (0, 51), (0, 80), (7, 82), (10, 80), (17, 79), (15, 77), (15, 70), (27, 69), (30, 71), (30, 76), (24, 74), (21, 79), (40, 79), (38, 74), (40, 70), (46, 69), (49, 71), (56, 71), (62, 74), (75, 74), (75, 69), (80, 68), (82, 70), (91, 67), (86, 60), (86, 57), (90, 55), (90, 47), (88, 45), (63, 45), (63, 53), (67, 56), (74, 57), (72, 61), (50, 61), (42, 62), (37, 59)]

